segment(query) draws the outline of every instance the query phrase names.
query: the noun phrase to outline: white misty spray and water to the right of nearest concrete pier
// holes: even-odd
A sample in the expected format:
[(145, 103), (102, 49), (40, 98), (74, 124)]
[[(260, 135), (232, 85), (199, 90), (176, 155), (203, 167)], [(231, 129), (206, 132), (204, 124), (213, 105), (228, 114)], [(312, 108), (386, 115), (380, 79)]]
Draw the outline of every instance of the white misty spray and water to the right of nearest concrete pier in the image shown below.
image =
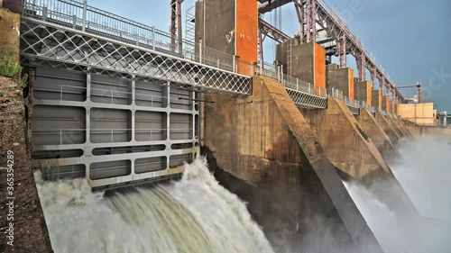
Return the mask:
[(366, 187), (345, 183), (386, 253), (451, 252), (451, 144), (439, 136), (400, 140), (402, 160), (389, 165), (419, 215), (403, 215), (375, 187), (395, 191), (387, 182)]

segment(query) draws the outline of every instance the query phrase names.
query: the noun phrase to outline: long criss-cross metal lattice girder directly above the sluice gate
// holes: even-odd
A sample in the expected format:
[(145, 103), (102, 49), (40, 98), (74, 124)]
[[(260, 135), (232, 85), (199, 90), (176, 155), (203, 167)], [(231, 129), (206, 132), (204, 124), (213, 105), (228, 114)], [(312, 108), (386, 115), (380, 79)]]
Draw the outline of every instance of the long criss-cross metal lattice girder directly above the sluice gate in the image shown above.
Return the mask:
[(183, 59), (184, 55), (172, 56), (26, 18), (21, 26), (23, 64), (91, 69), (107, 75), (251, 93), (250, 77)]

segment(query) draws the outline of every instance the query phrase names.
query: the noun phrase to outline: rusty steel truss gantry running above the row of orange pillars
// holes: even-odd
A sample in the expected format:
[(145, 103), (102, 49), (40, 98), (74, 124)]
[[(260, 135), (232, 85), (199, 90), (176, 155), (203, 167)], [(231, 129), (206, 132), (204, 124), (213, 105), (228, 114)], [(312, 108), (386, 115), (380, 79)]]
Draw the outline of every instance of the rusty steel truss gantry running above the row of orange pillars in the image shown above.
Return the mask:
[[(366, 80), (366, 69), (371, 73), (371, 80), (373, 86), (380, 86), (384, 95), (391, 95), (391, 99), (401, 103), (403, 101), (402, 95), (396, 89), (396, 86), (388, 77), (382, 67), (378, 66), (372, 55), (369, 54), (362, 44), (362, 42), (349, 31), (345, 23), (339, 18), (335, 12), (327, 6), (322, 0), (259, 0), (262, 7), (259, 9), (261, 14), (272, 11), (281, 5), (294, 4), (296, 14), (298, 16), (300, 32), (300, 41), (303, 43), (318, 42), (321, 44), (329, 55), (330, 59), (332, 53), (339, 59), (340, 68), (346, 67), (346, 55), (354, 56), (358, 71), (358, 80)], [(268, 5), (272, 3), (271, 5)], [(276, 41), (283, 42), (288, 39), (287, 35), (283, 34), (271, 24), (262, 23), (260, 29), (263, 35), (272, 34), (272, 38)], [(321, 41), (318, 40), (318, 32), (326, 31), (328, 38)], [(264, 37), (263, 37), (264, 38)], [(328, 50), (332, 49), (332, 50)]]

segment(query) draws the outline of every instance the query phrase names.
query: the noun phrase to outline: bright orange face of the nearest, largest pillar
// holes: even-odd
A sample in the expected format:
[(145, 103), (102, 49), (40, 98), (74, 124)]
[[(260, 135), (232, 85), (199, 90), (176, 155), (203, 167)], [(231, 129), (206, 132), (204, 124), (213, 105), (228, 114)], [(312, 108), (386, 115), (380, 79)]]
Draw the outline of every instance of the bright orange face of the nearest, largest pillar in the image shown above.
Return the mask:
[(238, 73), (253, 74), (251, 62), (257, 61), (258, 9), (255, 0), (236, 1), (235, 45)]

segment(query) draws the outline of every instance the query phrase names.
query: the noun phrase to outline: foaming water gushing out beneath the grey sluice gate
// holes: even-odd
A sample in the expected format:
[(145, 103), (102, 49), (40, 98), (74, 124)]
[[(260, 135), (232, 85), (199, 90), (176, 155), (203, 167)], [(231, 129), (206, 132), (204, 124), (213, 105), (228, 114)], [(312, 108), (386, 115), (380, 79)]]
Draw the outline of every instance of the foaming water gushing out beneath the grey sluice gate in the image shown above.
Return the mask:
[(41, 205), (56, 253), (272, 252), (235, 194), (218, 185), (205, 158), (179, 182), (104, 197), (86, 180), (44, 182)]

